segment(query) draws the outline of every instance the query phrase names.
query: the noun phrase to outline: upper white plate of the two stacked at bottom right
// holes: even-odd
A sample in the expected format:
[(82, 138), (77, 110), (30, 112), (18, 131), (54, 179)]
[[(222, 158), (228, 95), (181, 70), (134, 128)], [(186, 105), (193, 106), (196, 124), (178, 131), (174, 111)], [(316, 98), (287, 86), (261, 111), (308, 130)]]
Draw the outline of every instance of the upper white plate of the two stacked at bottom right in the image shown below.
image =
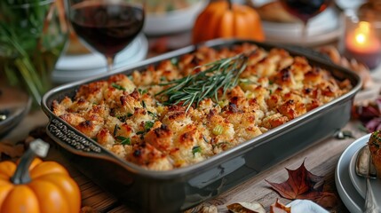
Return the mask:
[[(370, 134), (356, 140), (355, 142), (361, 143), (363, 146), (368, 142)], [(362, 146), (361, 146), (362, 147)], [(361, 148), (360, 148), (361, 149)], [(356, 175), (356, 170), (354, 169), (356, 165), (356, 158), (360, 152), (360, 149), (353, 154), (351, 158), (351, 162), (349, 162), (349, 177), (351, 177), (351, 181), (354, 185), (354, 188), (361, 194), (363, 198), (365, 198), (365, 185), (366, 181), (364, 177), (359, 177)], [(381, 180), (380, 179), (370, 179), (371, 190), (375, 197), (381, 198)], [(381, 206), (381, 201), (378, 202), (378, 206)]]

